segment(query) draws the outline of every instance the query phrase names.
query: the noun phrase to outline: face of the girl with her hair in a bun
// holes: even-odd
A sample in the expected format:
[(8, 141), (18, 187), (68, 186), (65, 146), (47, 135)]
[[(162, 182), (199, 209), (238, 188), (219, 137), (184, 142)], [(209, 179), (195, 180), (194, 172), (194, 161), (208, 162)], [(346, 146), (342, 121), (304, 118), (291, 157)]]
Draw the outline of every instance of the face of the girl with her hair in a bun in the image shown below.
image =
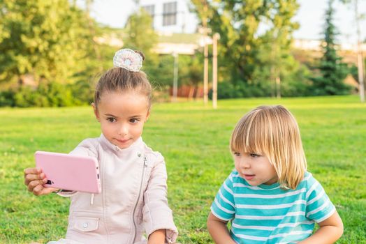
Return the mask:
[(135, 91), (105, 91), (93, 108), (105, 138), (121, 149), (136, 142), (149, 117), (147, 97)]

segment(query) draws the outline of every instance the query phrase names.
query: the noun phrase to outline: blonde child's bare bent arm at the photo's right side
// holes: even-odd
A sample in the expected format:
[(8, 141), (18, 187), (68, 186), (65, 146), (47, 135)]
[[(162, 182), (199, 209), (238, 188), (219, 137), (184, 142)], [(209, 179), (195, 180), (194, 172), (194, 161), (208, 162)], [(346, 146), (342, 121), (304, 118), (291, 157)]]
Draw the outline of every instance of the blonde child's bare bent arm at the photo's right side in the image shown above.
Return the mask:
[(309, 238), (300, 241), (299, 244), (311, 243), (335, 243), (343, 234), (343, 222), (337, 211), (322, 222), (319, 222), (319, 229)]

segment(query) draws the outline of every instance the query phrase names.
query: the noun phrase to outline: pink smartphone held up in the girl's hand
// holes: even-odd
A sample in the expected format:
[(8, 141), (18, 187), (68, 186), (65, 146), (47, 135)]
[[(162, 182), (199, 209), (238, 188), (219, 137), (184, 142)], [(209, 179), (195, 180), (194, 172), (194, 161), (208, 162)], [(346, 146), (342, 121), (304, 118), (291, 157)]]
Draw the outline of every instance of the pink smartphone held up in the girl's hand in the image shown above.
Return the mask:
[(36, 167), (45, 173), (46, 188), (100, 193), (99, 166), (96, 158), (36, 151)]

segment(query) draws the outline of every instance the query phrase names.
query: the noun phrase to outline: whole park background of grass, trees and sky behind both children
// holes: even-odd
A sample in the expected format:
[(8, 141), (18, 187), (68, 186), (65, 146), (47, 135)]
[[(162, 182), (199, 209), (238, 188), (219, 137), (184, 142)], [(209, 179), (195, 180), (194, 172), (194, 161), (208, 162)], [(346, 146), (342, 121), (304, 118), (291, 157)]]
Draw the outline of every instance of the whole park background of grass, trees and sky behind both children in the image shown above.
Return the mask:
[(0, 0), (0, 243), (64, 237), (68, 199), (31, 195), (23, 171), (101, 134), (87, 105), (121, 48), (145, 53), (144, 141), (166, 159), (178, 243), (212, 243), (231, 131), (277, 104), (342, 217), (337, 243), (366, 243), (365, 13), (366, 0)]

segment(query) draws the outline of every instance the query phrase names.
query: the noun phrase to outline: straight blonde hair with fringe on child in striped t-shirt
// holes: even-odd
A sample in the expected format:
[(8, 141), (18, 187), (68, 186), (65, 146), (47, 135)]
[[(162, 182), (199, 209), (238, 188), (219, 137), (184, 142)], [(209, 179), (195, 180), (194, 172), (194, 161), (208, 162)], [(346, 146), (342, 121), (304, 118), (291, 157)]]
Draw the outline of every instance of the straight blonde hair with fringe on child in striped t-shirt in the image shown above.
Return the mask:
[(285, 189), (297, 188), (307, 169), (298, 123), (281, 105), (260, 106), (245, 114), (235, 125), (230, 150), (268, 157)]

